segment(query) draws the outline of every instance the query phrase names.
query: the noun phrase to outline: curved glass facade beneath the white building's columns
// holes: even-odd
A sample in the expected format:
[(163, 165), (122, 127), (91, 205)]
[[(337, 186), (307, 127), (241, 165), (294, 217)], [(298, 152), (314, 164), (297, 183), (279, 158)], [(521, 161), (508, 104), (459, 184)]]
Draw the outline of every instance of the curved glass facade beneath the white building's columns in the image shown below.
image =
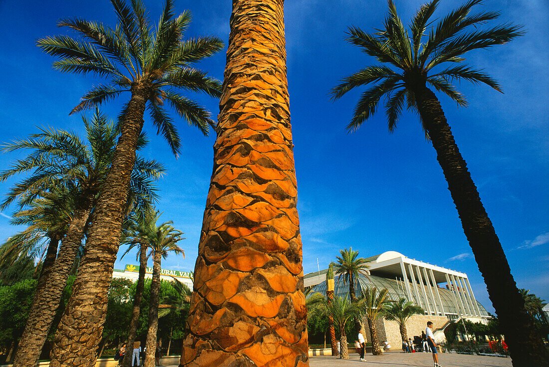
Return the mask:
[[(334, 290), (334, 296), (335, 297), (345, 297), (349, 299), (349, 282), (345, 282), (343, 276), (335, 276), (335, 290)], [(410, 285), (410, 290), (412, 293), (412, 298), (416, 297), (415, 288), (412, 282), (408, 282)], [(362, 293), (363, 289), (370, 288), (370, 287), (376, 287), (378, 290), (382, 290), (383, 288), (387, 288), (387, 298), (391, 301), (398, 301), (400, 298), (405, 298), (407, 301), (412, 301), (416, 304), (415, 299), (409, 299), (408, 294), (406, 292), (406, 285), (402, 280), (396, 280), (396, 279), (388, 279), (385, 277), (380, 277), (376, 275), (359, 275), (358, 281), (356, 277), (354, 278), (354, 285), (355, 285), (355, 294), (357, 297), (360, 297), (360, 294)], [(444, 309), (444, 313), (448, 314), (447, 317), (449, 319), (456, 319), (458, 316), (458, 310), (455, 307), (454, 302), (454, 295), (452, 291), (447, 290), (446, 288), (435, 288), (432, 286), (427, 285), (426, 283), (423, 283), (423, 286), (421, 283), (417, 283), (417, 290), (418, 290), (418, 296), (420, 299), (420, 302), (422, 303), (422, 307), (425, 309), (425, 313), (428, 313), (428, 308), (425, 303), (425, 297), (423, 295), (423, 288), (425, 288), (425, 293), (427, 293), (427, 301), (429, 302), (430, 308), (432, 312), (435, 312), (434, 303), (436, 302), (437, 308), (439, 304), (438, 297), (436, 295), (436, 291), (440, 294), (440, 301), (442, 302), (442, 308)], [(429, 287), (431, 287), (431, 291), (433, 292), (435, 300), (431, 299), (429, 291)], [(326, 282), (323, 281), (319, 283), (318, 285), (312, 287), (311, 292), (308, 294), (307, 297), (310, 297), (313, 293), (321, 293), (323, 295), (326, 295)], [(457, 296), (456, 294), (456, 297)], [(457, 302), (459, 304), (460, 299), (457, 298)], [(488, 312), (486, 312), (486, 309), (481, 305), (479, 302), (477, 302), (477, 305), (480, 310), (480, 314), (482, 316), (489, 316)]]

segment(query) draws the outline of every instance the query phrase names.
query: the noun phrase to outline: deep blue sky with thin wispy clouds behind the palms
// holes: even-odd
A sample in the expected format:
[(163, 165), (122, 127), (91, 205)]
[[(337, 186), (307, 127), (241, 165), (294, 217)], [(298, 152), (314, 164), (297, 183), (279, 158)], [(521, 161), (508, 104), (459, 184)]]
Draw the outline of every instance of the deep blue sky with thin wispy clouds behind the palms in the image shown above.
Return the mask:
[[(422, 1), (396, 0), (407, 20)], [(461, 2), (443, 0), (438, 13)], [(145, 1), (156, 21), (160, 2)], [(549, 5), (545, 0), (485, 1), (479, 9), (499, 9), (501, 22), (523, 24), (526, 34), (504, 46), (468, 54), (468, 63), (485, 69), (505, 94), (483, 85), (459, 85), (468, 108), (456, 108), (439, 96), (458, 147), (494, 223), (519, 287), (549, 300)], [(187, 35), (215, 35), (227, 42), (230, 1), (176, 2), (177, 12), (191, 10)], [(352, 109), (361, 90), (331, 102), (328, 91), (339, 80), (375, 63), (344, 41), (348, 26), (365, 31), (380, 27), (385, 2), (288, 0), (285, 24), (288, 83), (294, 138), (298, 209), (305, 273), (321, 269), (352, 247), (368, 257), (398, 251), (410, 258), (467, 273), (477, 299), (493, 312), (483, 279), (463, 235), (460, 220), (416, 115), (405, 113), (389, 134), (378, 113), (354, 134), (347, 134)], [(82, 132), (79, 115), (70, 110), (100, 80), (51, 69), (53, 58), (35, 46), (37, 38), (63, 34), (60, 18), (81, 17), (114, 25), (110, 2), (0, 2), (1, 142), (24, 138), (37, 126)], [(221, 79), (225, 50), (199, 66)], [(192, 96), (215, 116), (218, 102)], [(102, 110), (116, 116), (127, 96)], [(178, 159), (145, 119), (150, 144), (142, 153), (168, 169), (158, 182), (157, 207), (164, 220), (185, 232), (186, 258), (173, 256), (163, 268), (192, 270), (212, 168), (214, 138), (179, 122), (183, 151)], [(5, 169), (20, 153), (0, 154)], [(19, 177), (20, 178), (20, 177)], [(5, 193), (15, 180), (0, 184)], [(14, 208), (0, 213), (0, 240), (17, 229), (9, 225)], [(129, 257), (115, 267), (135, 263)]]

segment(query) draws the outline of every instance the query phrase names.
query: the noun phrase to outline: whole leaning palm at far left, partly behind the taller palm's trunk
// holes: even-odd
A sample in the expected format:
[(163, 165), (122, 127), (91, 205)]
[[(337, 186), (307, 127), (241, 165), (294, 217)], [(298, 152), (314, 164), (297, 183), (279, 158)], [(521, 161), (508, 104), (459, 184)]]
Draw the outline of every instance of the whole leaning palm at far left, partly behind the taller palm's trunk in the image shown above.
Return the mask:
[[(51, 277), (48, 277), (43, 288), (47, 292), (35, 293), (31, 313), (15, 355), (14, 366), (31, 365), (40, 357), (66, 279), (74, 266), (88, 224), (92, 221), (92, 209), (96, 207), (98, 194), (103, 189), (114, 155), (117, 137), (115, 124), (97, 109), (91, 120), (86, 116), (82, 116), (82, 120), (86, 127), (87, 141), (81, 140), (70, 131), (40, 129), (39, 134), (33, 134), (26, 140), (5, 144), (3, 148), (4, 151), (31, 149), (31, 153), (10, 169), (0, 173), (0, 180), (29, 171), (32, 173), (10, 188), (2, 207), (16, 199), (19, 200), (19, 207), (24, 207), (35, 199), (37, 194), (57, 192), (60, 190), (59, 187), (68, 187), (67, 190), (70, 190), (70, 196), (65, 195), (61, 197), (61, 201), (57, 201), (59, 208), (53, 205), (51, 209), (54, 215), (65, 213), (65, 217), (68, 218), (67, 228), (57, 259), (53, 257), (55, 263), (52, 265)], [(138, 149), (146, 143), (144, 135), (139, 136)], [(164, 167), (154, 160), (137, 158), (131, 173), (128, 195), (137, 207), (148, 207), (149, 202), (158, 197), (152, 180), (160, 177), (164, 171)], [(71, 197), (69, 202), (72, 206), (64, 202), (68, 197)], [(23, 246), (24, 243), (18, 241), (18, 246)]]

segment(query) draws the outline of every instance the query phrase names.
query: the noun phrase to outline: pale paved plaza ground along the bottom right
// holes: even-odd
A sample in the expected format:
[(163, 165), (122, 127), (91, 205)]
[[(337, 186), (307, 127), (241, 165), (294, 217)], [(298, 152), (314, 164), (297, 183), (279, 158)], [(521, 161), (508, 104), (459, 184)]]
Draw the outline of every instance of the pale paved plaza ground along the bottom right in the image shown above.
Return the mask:
[[(389, 352), (383, 355), (365, 355), (366, 362), (358, 360), (358, 354), (351, 354), (349, 359), (339, 357), (310, 357), (310, 367), (432, 367), (431, 353), (399, 353)], [(439, 353), (439, 363), (442, 367), (512, 367), (511, 358), (487, 357), (484, 355), (467, 355)]]

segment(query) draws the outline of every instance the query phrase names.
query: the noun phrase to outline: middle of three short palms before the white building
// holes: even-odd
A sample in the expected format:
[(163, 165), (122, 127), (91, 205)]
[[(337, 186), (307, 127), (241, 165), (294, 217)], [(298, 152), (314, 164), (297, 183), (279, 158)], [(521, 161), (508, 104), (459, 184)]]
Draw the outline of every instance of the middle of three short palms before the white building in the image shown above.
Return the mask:
[(367, 288), (366, 291), (362, 291), (362, 296), (357, 303), (358, 309), (361, 314), (366, 316), (368, 320), (368, 328), (370, 330), (370, 338), (372, 339), (372, 354), (383, 354), (379, 348), (379, 341), (377, 338), (376, 320), (378, 316), (385, 314), (387, 307), (387, 288), (383, 288), (377, 293), (376, 287)]

